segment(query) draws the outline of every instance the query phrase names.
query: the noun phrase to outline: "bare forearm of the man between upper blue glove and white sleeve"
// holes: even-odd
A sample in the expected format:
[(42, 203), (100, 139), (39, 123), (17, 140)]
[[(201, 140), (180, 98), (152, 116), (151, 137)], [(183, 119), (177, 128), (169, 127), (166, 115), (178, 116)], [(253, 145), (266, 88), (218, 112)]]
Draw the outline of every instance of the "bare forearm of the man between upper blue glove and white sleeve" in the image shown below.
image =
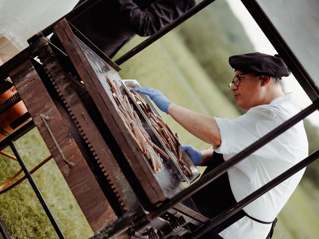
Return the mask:
[(174, 103), (170, 103), (167, 113), (188, 132), (206, 143), (219, 146), (221, 144), (220, 132), (216, 120)]

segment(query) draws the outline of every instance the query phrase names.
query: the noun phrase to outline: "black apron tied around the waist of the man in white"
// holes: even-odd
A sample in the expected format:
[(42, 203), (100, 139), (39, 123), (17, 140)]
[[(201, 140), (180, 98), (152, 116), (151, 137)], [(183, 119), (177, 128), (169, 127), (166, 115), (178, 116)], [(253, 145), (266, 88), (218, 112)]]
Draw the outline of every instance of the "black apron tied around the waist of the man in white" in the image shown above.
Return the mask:
[[(214, 152), (212, 162), (205, 169), (203, 175), (223, 162), (223, 155)], [(236, 199), (234, 198), (233, 192), (231, 191), (227, 172), (219, 176), (217, 179), (199, 190), (197, 193), (193, 194), (191, 197), (196, 204), (199, 212), (209, 219), (213, 219), (214, 217), (237, 203)], [(220, 223), (212, 230), (205, 233), (203, 236), (199, 237), (199, 239), (222, 239), (218, 234), (245, 216), (258, 223), (272, 224), (272, 228), (266, 238), (271, 239), (271, 237), (273, 236), (277, 218), (273, 222), (263, 222), (250, 217), (244, 212), (244, 210), (238, 211), (236, 214), (229, 217), (224, 222)]]

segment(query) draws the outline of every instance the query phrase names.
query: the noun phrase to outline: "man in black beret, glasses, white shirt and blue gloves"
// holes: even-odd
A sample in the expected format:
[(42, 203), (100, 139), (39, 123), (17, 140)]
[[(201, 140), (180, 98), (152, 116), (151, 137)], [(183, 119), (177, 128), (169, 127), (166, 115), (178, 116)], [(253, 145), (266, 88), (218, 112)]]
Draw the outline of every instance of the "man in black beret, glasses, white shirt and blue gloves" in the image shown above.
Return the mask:
[[(205, 172), (300, 112), (293, 94), (285, 95), (282, 91), (281, 77), (288, 76), (290, 71), (281, 58), (255, 52), (232, 56), (229, 64), (235, 69), (230, 90), (238, 108), (247, 111), (237, 119), (204, 116), (171, 103), (151, 88), (136, 89), (149, 95), (160, 110), (194, 136), (212, 144), (201, 151), (190, 145), (183, 146), (195, 165), (208, 166)], [(308, 140), (303, 123), (299, 122), (231, 167), (192, 198), (203, 215), (214, 218), (307, 156)], [(202, 238), (271, 238), (275, 219), (304, 171), (259, 197)]]

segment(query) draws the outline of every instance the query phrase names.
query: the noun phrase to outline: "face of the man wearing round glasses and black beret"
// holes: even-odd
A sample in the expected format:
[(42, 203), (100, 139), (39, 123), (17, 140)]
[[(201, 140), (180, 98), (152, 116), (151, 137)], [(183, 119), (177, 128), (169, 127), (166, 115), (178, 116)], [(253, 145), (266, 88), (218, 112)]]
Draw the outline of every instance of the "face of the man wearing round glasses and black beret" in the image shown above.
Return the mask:
[[(246, 72), (235, 71), (234, 77)], [(237, 107), (243, 111), (248, 111), (250, 108), (260, 105), (260, 95), (262, 90), (262, 81), (254, 73), (240, 76), (239, 86), (232, 84), (230, 90), (234, 93)]]

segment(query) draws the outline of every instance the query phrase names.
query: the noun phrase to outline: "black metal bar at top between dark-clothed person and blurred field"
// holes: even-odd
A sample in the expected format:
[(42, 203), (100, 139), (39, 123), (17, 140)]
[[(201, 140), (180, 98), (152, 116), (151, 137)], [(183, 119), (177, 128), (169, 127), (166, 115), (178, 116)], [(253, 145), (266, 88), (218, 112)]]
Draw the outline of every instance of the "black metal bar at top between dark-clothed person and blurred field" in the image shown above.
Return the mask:
[(140, 43), (139, 45), (137, 45), (136, 47), (134, 47), (133, 49), (131, 49), (130, 51), (125, 53), (123, 56), (119, 57), (114, 62), (117, 65), (123, 64), (124, 62), (129, 60), (131, 57), (135, 56), (140, 51), (144, 50), (146, 47), (151, 45), (153, 42), (158, 40), (160, 37), (162, 37), (163, 35), (165, 35), (169, 31), (171, 31), (172, 29), (174, 29), (179, 24), (183, 23), (185, 20), (187, 20), (188, 18), (190, 18), (191, 16), (196, 14), (198, 11), (200, 11), (201, 9), (203, 9), (204, 7), (206, 7), (207, 5), (212, 3), (213, 1), (215, 1), (215, 0), (203, 0), (203, 1), (199, 2), (197, 5), (193, 6), (188, 11), (186, 11), (183, 15), (177, 17), (171, 23), (169, 23), (168, 25), (166, 25), (165, 27), (163, 27), (162, 29), (160, 29), (159, 31), (154, 33), (152, 36), (150, 36), (145, 41), (143, 41), (142, 43)]

